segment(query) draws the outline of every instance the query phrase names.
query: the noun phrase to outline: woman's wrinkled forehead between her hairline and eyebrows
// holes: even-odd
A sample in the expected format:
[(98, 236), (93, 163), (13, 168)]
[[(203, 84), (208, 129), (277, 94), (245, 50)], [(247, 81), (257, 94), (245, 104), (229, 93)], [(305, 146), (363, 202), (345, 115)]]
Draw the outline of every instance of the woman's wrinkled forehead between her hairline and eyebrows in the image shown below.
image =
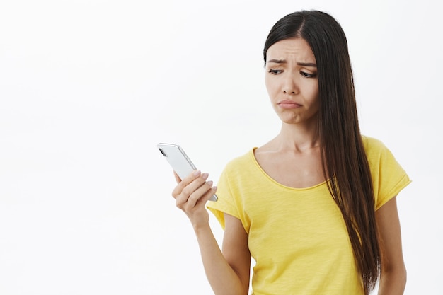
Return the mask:
[(296, 62), (316, 62), (308, 42), (302, 38), (291, 38), (281, 40), (272, 44), (266, 52), (266, 60), (284, 59)]

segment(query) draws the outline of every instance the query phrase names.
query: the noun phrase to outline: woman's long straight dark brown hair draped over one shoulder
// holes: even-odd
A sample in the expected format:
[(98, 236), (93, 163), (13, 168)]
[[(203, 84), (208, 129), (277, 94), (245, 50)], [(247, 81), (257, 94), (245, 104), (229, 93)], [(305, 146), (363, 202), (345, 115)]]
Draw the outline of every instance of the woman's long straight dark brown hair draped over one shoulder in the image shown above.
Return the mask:
[(270, 30), (263, 50), (265, 62), (271, 45), (294, 37), (306, 40), (316, 57), (323, 173), (329, 178), (330, 194), (345, 220), (364, 292), (369, 294), (380, 276), (381, 253), (374, 188), (359, 130), (346, 36), (327, 13), (291, 13)]

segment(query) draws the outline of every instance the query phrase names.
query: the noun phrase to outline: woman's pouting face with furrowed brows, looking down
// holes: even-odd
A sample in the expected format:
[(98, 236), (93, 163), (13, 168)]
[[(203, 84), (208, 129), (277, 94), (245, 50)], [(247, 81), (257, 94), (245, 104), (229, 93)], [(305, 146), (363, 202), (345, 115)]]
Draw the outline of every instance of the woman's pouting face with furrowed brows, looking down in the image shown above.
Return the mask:
[(266, 53), (265, 83), (282, 122), (317, 122), (319, 109), (316, 58), (301, 38), (282, 40)]

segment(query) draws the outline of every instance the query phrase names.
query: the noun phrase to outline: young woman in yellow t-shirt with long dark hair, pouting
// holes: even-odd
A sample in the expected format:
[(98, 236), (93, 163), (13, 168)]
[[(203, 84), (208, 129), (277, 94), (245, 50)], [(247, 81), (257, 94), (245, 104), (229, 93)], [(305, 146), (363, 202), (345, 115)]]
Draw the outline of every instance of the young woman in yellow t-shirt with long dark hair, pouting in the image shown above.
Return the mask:
[[(265, 83), (277, 137), (231, 161), (217, 187), (196, 170), (173, 190), (195, 230), (215, 294), (403, 294), (396, 195), (410, 180), (380, 141), (360, 134), (347, 40), (327, 13), (271, 29)], [(223, 250), (205, 204), (224, 227)]]

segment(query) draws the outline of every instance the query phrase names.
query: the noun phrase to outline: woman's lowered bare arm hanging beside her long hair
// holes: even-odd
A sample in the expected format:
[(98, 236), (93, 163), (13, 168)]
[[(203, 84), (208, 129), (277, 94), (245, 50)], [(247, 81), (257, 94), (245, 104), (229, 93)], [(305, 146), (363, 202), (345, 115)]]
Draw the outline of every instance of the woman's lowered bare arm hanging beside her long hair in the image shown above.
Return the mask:
[(377, 210), (376, 221), (381, 248), (379, 295), (402, 295), (406, 284), (406, 268), (396, 197)]

